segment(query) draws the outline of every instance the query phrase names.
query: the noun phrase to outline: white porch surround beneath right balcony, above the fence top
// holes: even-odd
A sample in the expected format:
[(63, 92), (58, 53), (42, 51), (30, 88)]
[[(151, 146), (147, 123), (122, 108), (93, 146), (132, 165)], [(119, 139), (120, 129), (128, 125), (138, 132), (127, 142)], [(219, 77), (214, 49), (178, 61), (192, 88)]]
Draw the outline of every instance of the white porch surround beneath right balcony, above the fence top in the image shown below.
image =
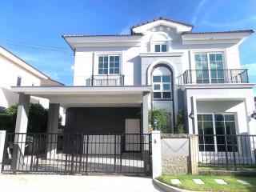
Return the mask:
[(197, 134), (198, 113), (234, 113), (238, 133), (256, 134), (256, 121), (250, 118), (254, 111), (252, 89), (190, 89), (186, 90), (186, 112), (194, 112), (194, 120), (188, 118), (190, 134)]

